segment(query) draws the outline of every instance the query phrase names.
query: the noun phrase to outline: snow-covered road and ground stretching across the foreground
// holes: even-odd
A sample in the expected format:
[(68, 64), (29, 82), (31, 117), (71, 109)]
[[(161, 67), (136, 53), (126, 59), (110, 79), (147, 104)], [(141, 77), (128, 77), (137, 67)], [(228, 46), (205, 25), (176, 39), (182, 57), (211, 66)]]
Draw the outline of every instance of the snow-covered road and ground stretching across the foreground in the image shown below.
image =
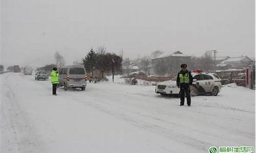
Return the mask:
[[(255, 145), (255, 90), (231, 85), (218, 96), (179, 98), (154, 86), (88, 83), (86, 91), (4, 73), (0, 152), (207, 152)], [(120, 80), (119, 80), (120, 81)]]

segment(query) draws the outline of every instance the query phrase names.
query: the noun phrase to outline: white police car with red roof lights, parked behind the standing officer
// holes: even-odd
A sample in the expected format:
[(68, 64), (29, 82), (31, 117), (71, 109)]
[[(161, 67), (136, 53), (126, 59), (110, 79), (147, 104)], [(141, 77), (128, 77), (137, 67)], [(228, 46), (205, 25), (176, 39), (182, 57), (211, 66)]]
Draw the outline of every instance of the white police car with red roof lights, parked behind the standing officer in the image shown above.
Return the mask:
[[(217, 96), (221, 90), (221, 79), (215, 73), (206, 73), (201, 70), (194, 70), (193, 85), (190, 86), (190, 94), (193, 95), (214, 95)], [(179, 96), (180, 89), (176, 85), (176, 78), (161, 82), (156, 85), (156, 93), (161, 95)]]

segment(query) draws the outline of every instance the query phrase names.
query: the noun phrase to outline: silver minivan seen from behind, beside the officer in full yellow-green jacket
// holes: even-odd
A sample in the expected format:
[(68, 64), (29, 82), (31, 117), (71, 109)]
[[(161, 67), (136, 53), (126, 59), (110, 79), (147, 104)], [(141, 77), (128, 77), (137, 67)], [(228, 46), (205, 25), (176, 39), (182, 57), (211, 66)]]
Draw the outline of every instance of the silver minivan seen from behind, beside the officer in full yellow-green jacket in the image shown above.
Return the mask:
[(63, 66), (59, 70), (59, 85), (67, 91), (69, 88), (86, 89), (86, 69), (82, 65)]

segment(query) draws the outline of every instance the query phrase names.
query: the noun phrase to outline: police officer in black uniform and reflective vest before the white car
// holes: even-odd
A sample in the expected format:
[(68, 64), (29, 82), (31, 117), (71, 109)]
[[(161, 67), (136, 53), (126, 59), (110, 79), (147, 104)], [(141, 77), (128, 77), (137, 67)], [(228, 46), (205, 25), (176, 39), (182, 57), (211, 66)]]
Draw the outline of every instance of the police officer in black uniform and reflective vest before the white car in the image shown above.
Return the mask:
[(193, 83), (193, 77), (191, 73), (187, 70), (186, 64), (181, 64), (181, 71), (178, 73), (177, 76), (177, 86), (180, 88), (180, 106), (184, 105), (184, 96), (186, 93), (187, 97), (187, 106), (191, 105), (191, 98), (190, 98), (190, 88), (189, 85)]

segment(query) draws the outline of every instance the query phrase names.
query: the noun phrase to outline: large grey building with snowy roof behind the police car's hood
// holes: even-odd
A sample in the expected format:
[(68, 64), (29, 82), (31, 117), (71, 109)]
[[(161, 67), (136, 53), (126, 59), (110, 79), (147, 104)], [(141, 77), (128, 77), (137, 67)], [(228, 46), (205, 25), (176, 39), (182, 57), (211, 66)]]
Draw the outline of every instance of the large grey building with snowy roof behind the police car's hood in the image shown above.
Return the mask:
[(155, 75), (173, 74), (180, 71), (180, 65), (186, 63), (189, 69), (191, 56), (184, 55), (180, 51), (164, 53), (152, 58), (152, 70)]

